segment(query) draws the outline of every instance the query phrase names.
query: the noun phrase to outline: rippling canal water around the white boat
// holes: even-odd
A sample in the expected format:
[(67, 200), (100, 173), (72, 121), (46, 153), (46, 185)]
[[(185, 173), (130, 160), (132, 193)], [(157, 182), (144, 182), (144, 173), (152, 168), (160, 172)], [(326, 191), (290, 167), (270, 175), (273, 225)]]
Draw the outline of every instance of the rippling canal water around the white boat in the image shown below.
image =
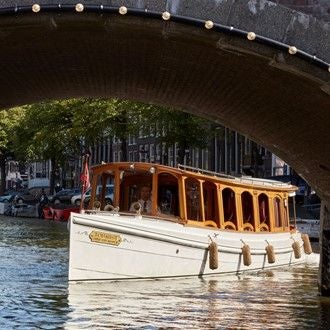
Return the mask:
[(0, 329), (330, 329), (317, 271), (68, 285), (66, 224), (0, 217)]

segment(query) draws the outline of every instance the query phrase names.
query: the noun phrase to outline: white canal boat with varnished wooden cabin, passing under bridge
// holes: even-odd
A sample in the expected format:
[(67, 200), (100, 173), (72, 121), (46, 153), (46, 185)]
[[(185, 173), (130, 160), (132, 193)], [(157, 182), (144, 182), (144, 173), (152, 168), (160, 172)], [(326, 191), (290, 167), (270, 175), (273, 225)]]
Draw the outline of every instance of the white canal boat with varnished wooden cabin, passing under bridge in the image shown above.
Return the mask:
[(290, 226), (291, 184), (129, 162), (94, 166), (91, 177), (89, 206), (70, 216), (69, 281), (239, 274), (315, 261), (308, 236)]

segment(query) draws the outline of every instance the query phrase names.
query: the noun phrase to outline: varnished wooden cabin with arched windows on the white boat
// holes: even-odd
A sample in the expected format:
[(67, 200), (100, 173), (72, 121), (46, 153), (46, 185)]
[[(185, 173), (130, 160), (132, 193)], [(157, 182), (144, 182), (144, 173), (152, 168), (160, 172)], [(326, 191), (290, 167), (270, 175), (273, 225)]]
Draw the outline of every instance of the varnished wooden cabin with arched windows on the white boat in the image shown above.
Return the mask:
[[(236, 178), (187, 166), (109, 163), (92, 168), (89, 209), (111, 208), (104, 202), (109, 184), (114, 185), (113, 206), (121, 213), (130, 213), (141, 188), (148, 187), (152, 202), (147, 217), (252, 232), (290, 231), (288, 199), (297, 189), (273, 180)], [(103, 189), (96, 195), (99, 185)]]

